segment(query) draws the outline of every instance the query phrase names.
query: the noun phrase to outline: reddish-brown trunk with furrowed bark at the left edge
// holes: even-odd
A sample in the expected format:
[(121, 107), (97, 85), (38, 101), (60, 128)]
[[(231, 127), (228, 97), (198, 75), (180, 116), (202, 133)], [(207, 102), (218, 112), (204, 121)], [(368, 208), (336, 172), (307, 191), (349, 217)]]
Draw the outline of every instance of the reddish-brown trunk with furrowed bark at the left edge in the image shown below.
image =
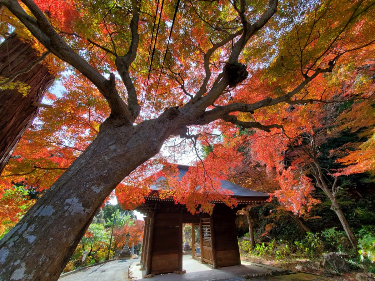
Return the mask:
[[(8, 78), (26, 69), (38, 58), (29, 43), (13, 34), (0, 45), (0, 76)], [(38, 108), (31, 103), (42, 100), (54, 79), (48, 68), (39, 63), (15, 79), (30, 86), (26, 97), (17, 90), (0, 90), (0, 175), (18, 141), (36, 117)]]

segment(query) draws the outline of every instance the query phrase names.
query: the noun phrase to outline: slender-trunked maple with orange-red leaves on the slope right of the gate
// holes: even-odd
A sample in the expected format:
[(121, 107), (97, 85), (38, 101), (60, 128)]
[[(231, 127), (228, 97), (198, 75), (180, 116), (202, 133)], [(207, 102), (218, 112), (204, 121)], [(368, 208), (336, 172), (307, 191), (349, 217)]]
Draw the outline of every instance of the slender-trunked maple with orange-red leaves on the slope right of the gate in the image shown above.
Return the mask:
[[(360, 71), (360, 69), (363, 68), (363, 65), (367, 66), (366, 68), (368, 68), (368, 64), (364, 64), (364, 61), (366, 62), (366, 60), (368, 60), (367, 57), (357, 60), (356, 67), (353, 70), (345, 73), (345, 75), (351, 79), (348, 79), (345, 86), (343, 86), (343, 83), (340, 84), (342, 91), (340, 94), (341, 96), (347, 96), (348, 92), (366, 93), (364, 94), (363, 98), (372, 96), (374, 84), (371, 82), (370, 77), (365, 77), (365, 79), (363, 79), (363, 73)], [(356, 85), (356, 81), (360, 81), (359, 78), (362, 78), (362, 81)], [(331, 88), (326, 88), (326, 91), (334, 91), (334, 93), (337, 94), (337, 88), (332, 87), (332, 84)], [(353, 103), (353, 101), (351, 103)], [(274, 169), (278, 171), (275, 179), (279, 182), (280, 187), (273, 190), (272, 194), (273, 196), (277, 197), (280, 203), (284, 205), (283, 208), (285, 211), (293, 212), (294, 214), (299, 215), (308, 214), (311, 206), (319, 202), (319, 200), (312, 197), (312, 193), (315, 190), (314, 185), (323, 190), (332, 202), (332, 209), (337, 214), (342, 227), (347, 233), (351, 245), (356, 252), (356, 247), (358, 244), (357, 238), (351, 230), (351, 227), (349, 226), (343, 212), (341, 211), (339, 201), (336, 198), (336, 194), (341, 188), (338, 185), (338, 176), (372, 170), (372, 155), (366, 155), (366, 153), (361, 150), (361, 148), (364, 147), (371, 150), (372, 138), (369, 138), (368, 141), (359, 145), (360, 149), (354, 149), (349, 153), (348, 148), (353, 148), (353, 146), (356, 145), (358, 146), (358, 143), (345, 143), (343, 146), (340, 146), (339, 149), (331, 151), (330, 157), (332, 157), (332, 155), (335, 153), (337, 154), (338, 150), (341, 151), (341, 154), (343, 153), (342, 150), (344, 150), (347, 155), (339, 158), (336, 160), (336, 162), (353, 165), (340, 168), (339, 171), (336, 172), (335, 169), (330, 167), (322, 167), (320, 163), (320, 146), (322, 143), (327, 142), (327, 139), (338, 135), (338, 133), (344, 130), (345, 127), (349, 127), (350, 130), (354, 132), (356, 130), (363, 130), (363, 128), (366, 129), (367, 125), (367, 128), (370, 128), (371, 132), (371, 128), (374, 126), (374, 119), (370, 106), (371, 100), (366, 102), (363, 100), (359, 101), (353, 105), (353, 108), (349, 107), (350, 112), (342, 114), (345, 106), (351, 105), (351, 103), (346, 103), (341, 106), (325, 105), (321, 109), (315, 109), (315, 111), (311, 109), (310, 113), (314, 112), (316, 117), (311, 119), (311, 121), (315, 123), (311, 122), (313, 125), (310, 124), (310, 128), (304, 126), (304, 124), (300, 124), (298, 127), (299, 129), (294, 130), (293, 132), (287, 131), (287, 129), (283, 128), (282, 132), (278, 134), (277, 137), (279, 139), (279, 143), (274, 144), (273, 146), (274, 148), (277, 148), (276, 150), (279, 150), (275, 153), (280, 157), (278, 162), (279, 164), (275, 165), (275, 163), (268, 163), (268, 165), (274, 167)], [(290, 108), (287, 110), (290, 111)], [(364, 116), (366, 116), (365, 123), (360, 120)], [(351, 120), (350, 123), (347, 122), (348, 119)], [(302, 119), (300, 122), (304, 121), (305, 120)], [(288, 135), (289, 132), (293, 134), (293, 137)], [(360, 133), (360, 135), (366, 137), (368, 137), (368, 135), (372, 136), (369, 134), (369, 129)], [(272, 140), (272, 138), (268, 140)], [(252, 139), (252, 137), (250, 137), (250, 141), (253, 142), (250, 146), (252, 146), (254, 149), (257, 149), (257, 145), (264, 146), (264, 140), (261, 140), (261, 143), (258, 143), (259, 139)], [(285, 146), (285, 141), (289, 142), (289, 147)], [(359, 156), (359, 158), (353, 158), (354, 155)], [(362, 155), (363, 157), (361, 157)], [(252, 154), (252, 156), (254, 159), (261, 160), (257, 154)], [(287, 163), (287, 165), (281, 164), (282, 161)], [(287, 167), (285, 168), (284, 166)], [(314, 182), (312, 179), (314, 179)], [(296, 220), (296, 222), (297, 221), (298, 220)], [(300, 226), (302, 225), (300, 224)]]

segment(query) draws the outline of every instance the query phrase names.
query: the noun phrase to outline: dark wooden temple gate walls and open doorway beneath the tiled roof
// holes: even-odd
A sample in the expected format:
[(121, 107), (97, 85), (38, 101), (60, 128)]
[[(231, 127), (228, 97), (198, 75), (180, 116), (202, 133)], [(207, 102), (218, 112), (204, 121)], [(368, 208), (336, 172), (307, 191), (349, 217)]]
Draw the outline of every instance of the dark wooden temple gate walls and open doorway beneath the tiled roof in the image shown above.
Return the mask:
[[(147, 204), (148, 203), (148, 204)], [(182, 205), (172, 202), (146, 202), (143, 212), (145, 231), (141, 265), (146, 274), (160, 274), (182, 271), (182, 224), (199, 227), (200, 254), (193, 247), (192, 257), (200, 262), (209, 263), (213, 268), (240, 265), (240, 252), (234, 224), (235, 212), (231, 208), (218, 204), (214, 214), (192, 215)]]

